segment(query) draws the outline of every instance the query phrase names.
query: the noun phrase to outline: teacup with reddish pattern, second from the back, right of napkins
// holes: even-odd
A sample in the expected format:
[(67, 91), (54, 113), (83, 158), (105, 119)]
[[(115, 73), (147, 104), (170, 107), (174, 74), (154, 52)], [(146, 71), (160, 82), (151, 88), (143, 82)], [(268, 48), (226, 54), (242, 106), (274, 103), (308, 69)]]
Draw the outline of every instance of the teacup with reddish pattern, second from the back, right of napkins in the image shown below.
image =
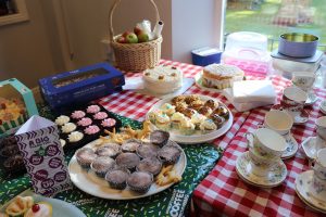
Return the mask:
[(301, 112), (308, 99), (308, 93), (298, 87), (288, 87), (283, 91), (281, 106), (290, 112)]

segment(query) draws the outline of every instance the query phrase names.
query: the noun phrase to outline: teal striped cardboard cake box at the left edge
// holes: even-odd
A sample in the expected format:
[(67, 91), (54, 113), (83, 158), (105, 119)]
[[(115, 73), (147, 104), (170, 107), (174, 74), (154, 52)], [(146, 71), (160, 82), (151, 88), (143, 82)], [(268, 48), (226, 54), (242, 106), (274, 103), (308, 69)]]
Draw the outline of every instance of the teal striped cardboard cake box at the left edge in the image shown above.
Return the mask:
[[(0, 98), (9, 101), (16, 99), (23, 102), (26, 108), (26, 114), (22, 114), (22, 116), (20, 116), (16, 119), (12, 119), (9, 122), (1, 120), (0, 138), (16, 131), (16, 129), (22, 124), (24, 124), (28, 119), (28, 117), (33, 115), (38, 115), (38, 111), (35, 104), (32, 90), (28, 89), (16, 78), (11, 78), (4, 81), (0, 81)], [(4, 111), (3, 107), (0, 107), (0, 110)], [(9, 113), (12, 112), (10, 108), (8, 110)]]

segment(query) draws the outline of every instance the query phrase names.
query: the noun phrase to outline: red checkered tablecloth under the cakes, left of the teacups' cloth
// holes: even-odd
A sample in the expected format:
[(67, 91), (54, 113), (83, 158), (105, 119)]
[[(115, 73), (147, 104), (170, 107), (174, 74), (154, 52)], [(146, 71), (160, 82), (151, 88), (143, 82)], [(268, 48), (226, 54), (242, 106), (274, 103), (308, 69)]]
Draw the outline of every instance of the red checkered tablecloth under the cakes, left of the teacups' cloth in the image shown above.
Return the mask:
[[(183, 69), (185, 77), (195, 77), (197, 73), (201, 72), (202, 67), (195, 66), (185, 63), (172, 62), (162, 60), (160, 64), (173, 65)], [(127, 73), (126, 77), (137, 77), (141, 76), (141, 73)], [(224, 104), (226, 104), (233, 115), (234, 115), (234, 124), (231, 129), (224, 136), (220, 137), (214, 141), (214, 144), (218, 144), (221, 148), (226, 148), (226, 145), (230, 142), (237, 131), (240, 129), (240, 126), (243, 124), (246, 118), (249, 115), (249, 112), (240, 113), (235, 110), (235, 107), (224, 98), (221, 93), (211, 92), (206, 90), (202, 90), (196, 85), (190, 87), (184, 94), (203, 94), (209, 95), (214, 99), (218, 99)], [(137, 119), (145, 120), (147, 112), (150, 107), (158, 102), (160, 99), (136, 93), (130, 90), (124, 90), (122, 92), (113, 93), (105, 98), (102, 98), (99, 103), (102, 104), (106, 110), (117, 113), (120, 115)]]

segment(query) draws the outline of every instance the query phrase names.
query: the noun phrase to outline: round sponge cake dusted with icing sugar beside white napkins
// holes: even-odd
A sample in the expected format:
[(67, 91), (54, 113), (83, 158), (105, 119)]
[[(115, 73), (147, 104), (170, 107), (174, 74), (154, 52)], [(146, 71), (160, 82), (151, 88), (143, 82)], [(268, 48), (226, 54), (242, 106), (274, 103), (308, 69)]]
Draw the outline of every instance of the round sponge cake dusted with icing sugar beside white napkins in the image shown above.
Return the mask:
[(234, 81), (242, 80), (244, 72), (234, 65), (211, 64), (203, 68), (202, 85), (208, 88), (225, 89)]

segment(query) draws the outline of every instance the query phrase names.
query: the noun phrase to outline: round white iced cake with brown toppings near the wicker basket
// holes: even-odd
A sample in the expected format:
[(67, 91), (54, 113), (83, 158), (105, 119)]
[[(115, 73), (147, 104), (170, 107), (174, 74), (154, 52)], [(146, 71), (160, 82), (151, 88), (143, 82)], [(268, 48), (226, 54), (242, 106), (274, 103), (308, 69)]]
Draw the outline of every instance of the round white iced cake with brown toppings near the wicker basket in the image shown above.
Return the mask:
[(159, 65), (143, 72), (145, 88), (154, 93), (174, 92), (183, 86), (183, 72), (171, 65)]

